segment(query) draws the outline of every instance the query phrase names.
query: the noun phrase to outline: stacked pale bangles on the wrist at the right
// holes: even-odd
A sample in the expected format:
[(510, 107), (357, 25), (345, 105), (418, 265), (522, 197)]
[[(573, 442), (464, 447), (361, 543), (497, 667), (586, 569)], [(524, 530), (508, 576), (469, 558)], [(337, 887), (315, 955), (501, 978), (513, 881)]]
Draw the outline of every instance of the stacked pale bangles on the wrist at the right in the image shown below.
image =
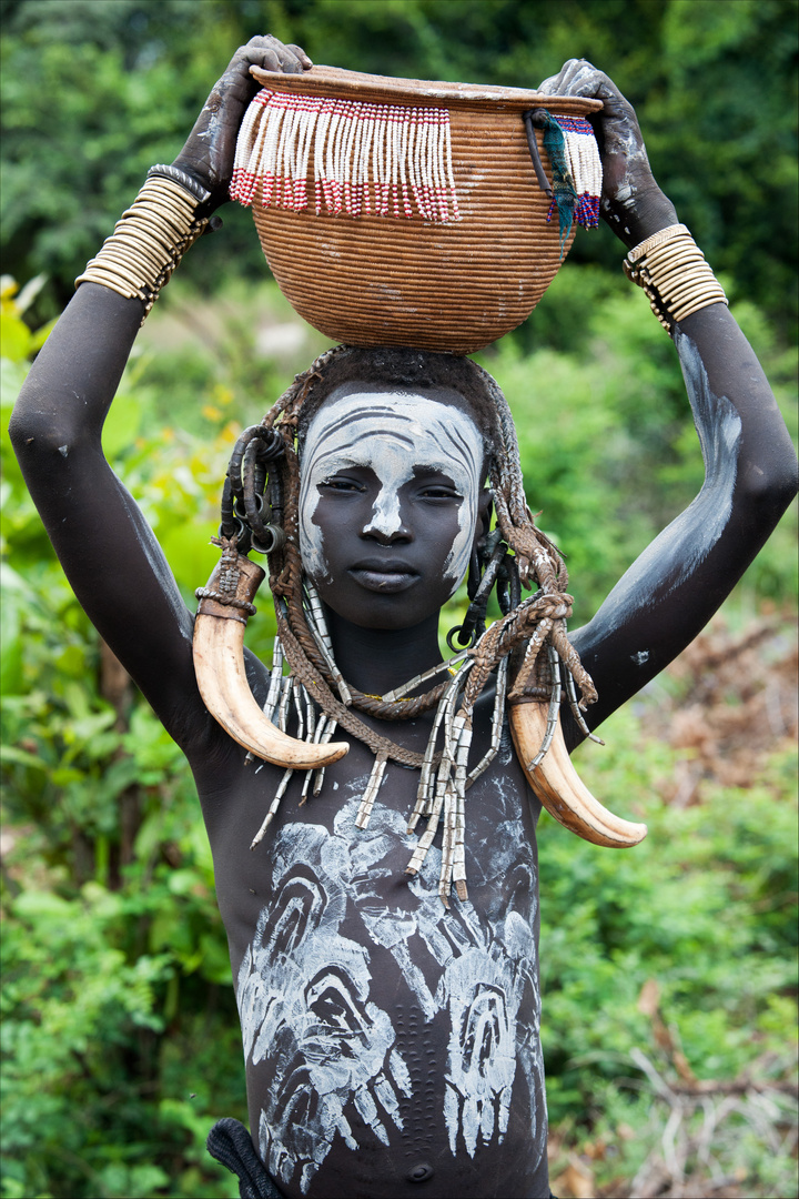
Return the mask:
[(685, 225), (668, 225), (627, 255), (624, 273), (643, 288), (660, 324), (674, 325), (712, 303), (727, 303), (724, 288)]

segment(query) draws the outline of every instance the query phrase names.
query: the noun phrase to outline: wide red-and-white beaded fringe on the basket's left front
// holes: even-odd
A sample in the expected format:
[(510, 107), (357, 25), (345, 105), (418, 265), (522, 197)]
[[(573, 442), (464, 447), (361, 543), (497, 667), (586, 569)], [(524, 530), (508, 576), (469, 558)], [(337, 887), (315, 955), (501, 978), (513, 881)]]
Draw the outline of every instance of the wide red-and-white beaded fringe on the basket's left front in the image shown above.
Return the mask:
[(446, 108), (265, 88), (241, 126), (230, 197), (249, 206), (259, 185), (264, 207), (460, 219)]

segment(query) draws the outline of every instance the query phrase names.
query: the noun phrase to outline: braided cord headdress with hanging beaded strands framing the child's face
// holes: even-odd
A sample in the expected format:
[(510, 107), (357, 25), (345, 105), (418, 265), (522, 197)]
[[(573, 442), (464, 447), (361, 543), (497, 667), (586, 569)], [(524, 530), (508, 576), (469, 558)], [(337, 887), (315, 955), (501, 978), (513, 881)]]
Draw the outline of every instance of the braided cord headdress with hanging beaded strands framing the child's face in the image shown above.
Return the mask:
[[(399, 385), (424, 394), (447, 387), (464, 397), (483, 436), (484, 470), (497, 518), (497, 528), (486, 538), (484, 550), (480, 555), (473, 554), (468, 584), (471, 603), (464, 625), (454, 631), (466, 649), (456, 652), (449, 663), (382, 697), (365, 694), (343, 679), (321, 601), (313, 582), (303, 573), (298, 537), (299, 463), (310, 421), (337, 388), (364, 380), (376, 390)], [(516, 430), (497, 382), (471, 360), (446, 354), (347, 345), (327, 350), (295, 378), (261, 423), (246, 429), (240, 438), (225, 480), (220, 544), (235, 546), (242, 554), (255, 549), (268, 556), (278, 638), (267, 715), (285, 728), (293, 701), (298, 733), (302, 728), (307, 740), (328, 741), (341, 725), (369, 746), (375, 754), (375, 767), (356, 818), (358, 827), (365, 827), (369, 821), (387, 760), (419, 769), (418, 797), (408, 825), (413, 829), (419, 818), (426, 817), (428, 827), (407, 869), (414, 874), (420, 868), (443, 814), (440, 894), (447, 904), (454, 885), (459, 897), (466, 898), (464, 838), (458, 836), (464, 827), (464, 796), (498, 749), (506, 699), (550, 699), (556, 711), (563, 679), (571, 711), (588, 733), (582, 710), (597, 698), (565, 632), (573, 603), (565, 594), (565, 565), (552, 542), (535, 526), (527, 507)], [(486, 631), (485, 610), (494, 586), (503, 615)], [(522, 588), (535, 590), (522, 601)], [(455, 649), (452, 634), (448, 641)], [(283, 675), (284, 658), (290, 670), (287, 677)], [(452, 670), (455, 663), (459, 663), (458, 669)], [(444, 669), (447, 665), (449, 673)], [(495, 671), (491, 748), (470, 771), (474, 703)], [(320, 713), (305, 689), (311, 679)], [(438, 681), (434, 682), (436, 679)], [(425, 682), (432, 686), (418, 694)], [(581, 691), (580, 699), (575, 682)], [(375, 731), (359, 716), (368, 713), (383, 721), (402, 721), (434, 709), (432, 731), (424, 754)], [(549, 742), (543, 745), (541, 752), (547, 746)], [(315, 773), (313, 784), (311, 773)], [(286, 771), (254, 845), (277, 812), (289, 776)], [(309, 772), (303, 799), (311, 785), (313, 794), (319, 794), (322, 779), (323, 770)]]

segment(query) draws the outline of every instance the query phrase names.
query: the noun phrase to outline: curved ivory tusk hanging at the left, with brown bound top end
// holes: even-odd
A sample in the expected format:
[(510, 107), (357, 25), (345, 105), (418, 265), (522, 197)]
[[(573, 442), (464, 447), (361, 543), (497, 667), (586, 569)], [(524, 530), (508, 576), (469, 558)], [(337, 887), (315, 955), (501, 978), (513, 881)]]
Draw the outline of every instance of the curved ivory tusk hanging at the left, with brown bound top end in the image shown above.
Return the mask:
[[(228, 570), (230, 571), (230, 564)], [(248, 558), (237, 555), (237, 600), (250, 603), (264, 578), (264, 571)], [(219, 595), (224, 585), (225, 564), (211, 576), (206, 592)], [(246, 609), (223, 604), (205, 595), (200, 600), (194, 623), (194, 673), (202, 703), (214, 721), (244, 749), (286, 770), (315, 770), (338, 761), (350, 748), (346, 741), (308, 745), (282, 733), (255, 703), (244, 671)]]

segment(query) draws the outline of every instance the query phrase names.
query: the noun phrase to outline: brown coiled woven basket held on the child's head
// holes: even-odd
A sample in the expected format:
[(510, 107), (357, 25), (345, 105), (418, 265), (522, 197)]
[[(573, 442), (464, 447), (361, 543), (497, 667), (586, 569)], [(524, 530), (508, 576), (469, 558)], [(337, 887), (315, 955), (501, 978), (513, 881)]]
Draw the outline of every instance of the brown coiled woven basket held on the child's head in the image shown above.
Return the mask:
[[(460, 219), (317, 215), (252, 199), (261, 246), (295, 309), (335, 342), (471, 354), (529, 315), (562, 261), (557, 215), (539, 186), (522, 113), (586, 116), (601, 102), (517, 88), (425, 83), (313, 67), (252, 68), (274, 92), (449, 112)], [(537, 132), (541, 164), (552, 171)], [(313, 151), (309, 176), (313, 179)], [(564, 242), (568, 249), (574, 230)]]

